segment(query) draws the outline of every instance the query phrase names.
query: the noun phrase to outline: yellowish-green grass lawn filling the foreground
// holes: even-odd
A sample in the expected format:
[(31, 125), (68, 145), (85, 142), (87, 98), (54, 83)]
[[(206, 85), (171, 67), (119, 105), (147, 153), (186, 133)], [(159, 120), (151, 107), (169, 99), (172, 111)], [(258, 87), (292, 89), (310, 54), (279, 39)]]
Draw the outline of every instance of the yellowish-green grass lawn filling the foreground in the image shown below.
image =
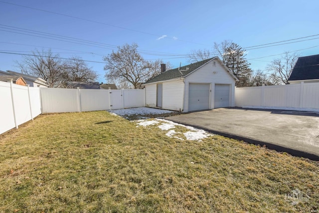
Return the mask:
[(63, 113), (0, 135), (0, 212), (319, 212), (318, 162), (157, 125)]

